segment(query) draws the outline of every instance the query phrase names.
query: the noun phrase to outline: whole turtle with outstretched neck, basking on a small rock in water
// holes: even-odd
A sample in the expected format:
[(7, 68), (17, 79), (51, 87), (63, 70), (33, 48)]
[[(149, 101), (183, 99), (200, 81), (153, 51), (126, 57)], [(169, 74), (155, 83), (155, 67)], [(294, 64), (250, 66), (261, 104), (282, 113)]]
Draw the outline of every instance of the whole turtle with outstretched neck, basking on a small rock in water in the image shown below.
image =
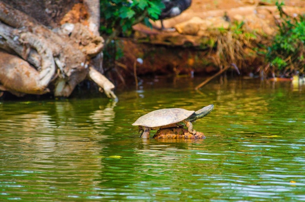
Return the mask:
[(139, 117), (132, 125), (139, 126), (140, 137), (143, 139), (149, 139), (151, 129), (156, 130), (180, 126), (188, 127), (188, 131), (195, 135), (196, 130), (193, 130), (191, 122), (205, 117), (213, 109), (214, 105), (206, 106), (198, 111), (181, 108), (154, 110)]

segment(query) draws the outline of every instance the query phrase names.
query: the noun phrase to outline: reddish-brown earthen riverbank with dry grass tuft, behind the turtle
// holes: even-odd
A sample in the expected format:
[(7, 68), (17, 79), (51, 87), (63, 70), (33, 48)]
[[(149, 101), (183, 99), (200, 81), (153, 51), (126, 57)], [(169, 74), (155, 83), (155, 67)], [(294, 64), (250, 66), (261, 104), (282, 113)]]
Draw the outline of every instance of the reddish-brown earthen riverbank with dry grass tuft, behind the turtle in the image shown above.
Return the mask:
[[(302, 15), (305, 2), (285, 1), (284, 11)], [(235, 63), (243, 75), (259, 74), (266, 65), (260, 53), (270, 45), (278, 23), (275, 2), (193, 0), (180, 16), (164, 20), (174, 32), (133, 27), (133, 38), (120, 42), (124, 57), (119, 62), (125, 65), (121, 73), (207, 75)], [(160, 22), (153, 26), (160, 27)]]

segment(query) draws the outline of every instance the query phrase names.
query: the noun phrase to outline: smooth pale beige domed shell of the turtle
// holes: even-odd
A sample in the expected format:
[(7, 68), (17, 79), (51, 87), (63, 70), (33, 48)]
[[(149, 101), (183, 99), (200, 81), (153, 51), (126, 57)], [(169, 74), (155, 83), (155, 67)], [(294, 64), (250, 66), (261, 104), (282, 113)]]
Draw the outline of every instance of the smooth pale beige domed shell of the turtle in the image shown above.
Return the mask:
[(189, 118), (194, 112), (181, 108), (154, 110), (138, 118), (132, 125), (149, 128), (167, 126)]

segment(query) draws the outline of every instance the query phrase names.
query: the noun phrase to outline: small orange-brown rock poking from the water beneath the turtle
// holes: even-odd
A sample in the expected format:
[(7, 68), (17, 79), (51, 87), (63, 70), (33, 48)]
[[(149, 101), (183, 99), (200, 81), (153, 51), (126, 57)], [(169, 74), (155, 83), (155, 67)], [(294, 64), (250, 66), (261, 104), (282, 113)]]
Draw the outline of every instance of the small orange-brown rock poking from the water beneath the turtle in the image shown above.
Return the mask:
[(183, 128), (167, 128), (159, 129), (153, 135), (154, 139), (206, 139), (203, 132), (196, 132), (195, 135), (191, 134), (187, 129)]

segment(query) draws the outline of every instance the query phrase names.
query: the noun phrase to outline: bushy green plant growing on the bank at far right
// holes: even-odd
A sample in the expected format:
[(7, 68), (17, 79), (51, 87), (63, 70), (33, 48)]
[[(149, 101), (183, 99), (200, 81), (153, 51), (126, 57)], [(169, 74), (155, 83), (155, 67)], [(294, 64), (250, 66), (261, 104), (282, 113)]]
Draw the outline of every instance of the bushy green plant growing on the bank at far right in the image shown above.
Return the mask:
[(304, 72), (305, 16), (289, 17), (283, 11), (284, 3), (276, 3), (280, 11), (279, 33), (267, 48), (266, 60), (276, 73), (286, 76)]

